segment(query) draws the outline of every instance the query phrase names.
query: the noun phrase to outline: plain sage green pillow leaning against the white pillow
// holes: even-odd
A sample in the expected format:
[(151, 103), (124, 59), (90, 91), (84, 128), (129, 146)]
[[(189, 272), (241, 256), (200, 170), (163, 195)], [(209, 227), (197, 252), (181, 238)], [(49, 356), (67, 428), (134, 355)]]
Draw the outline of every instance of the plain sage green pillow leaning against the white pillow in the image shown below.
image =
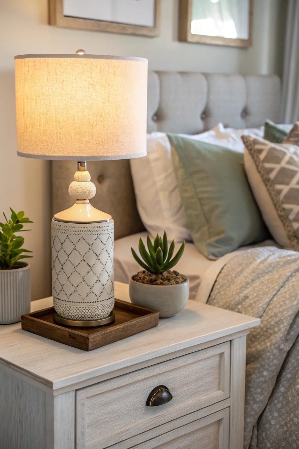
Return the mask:
[(208, 259), (269, 237), (244, 171), (244, 155), (168, 134), (189, 229)]

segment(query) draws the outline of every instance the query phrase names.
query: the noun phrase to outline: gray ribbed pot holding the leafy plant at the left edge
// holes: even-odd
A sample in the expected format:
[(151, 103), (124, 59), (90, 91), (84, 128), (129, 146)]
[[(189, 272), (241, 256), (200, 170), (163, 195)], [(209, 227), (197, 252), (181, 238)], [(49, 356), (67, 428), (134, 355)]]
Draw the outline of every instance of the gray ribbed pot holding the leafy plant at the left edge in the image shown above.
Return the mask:
[(30, 312), (30, 265), (0, 270), (0, 324), (21, 321)]

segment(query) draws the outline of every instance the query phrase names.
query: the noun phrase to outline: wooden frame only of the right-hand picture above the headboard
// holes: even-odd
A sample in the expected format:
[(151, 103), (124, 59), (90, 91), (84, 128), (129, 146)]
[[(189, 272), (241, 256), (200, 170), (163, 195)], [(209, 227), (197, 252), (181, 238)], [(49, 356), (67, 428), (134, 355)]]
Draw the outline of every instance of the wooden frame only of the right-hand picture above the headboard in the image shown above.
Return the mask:
[(249, 35), (248, 39), (232, 39), (229, 37), (196, 35), (191, 33), (191, 14), (193, 0), (180, 0), (179, 40), (193, 44), (229, 45), (232, 47), (251, 47), (253, 0), (249, 0)]

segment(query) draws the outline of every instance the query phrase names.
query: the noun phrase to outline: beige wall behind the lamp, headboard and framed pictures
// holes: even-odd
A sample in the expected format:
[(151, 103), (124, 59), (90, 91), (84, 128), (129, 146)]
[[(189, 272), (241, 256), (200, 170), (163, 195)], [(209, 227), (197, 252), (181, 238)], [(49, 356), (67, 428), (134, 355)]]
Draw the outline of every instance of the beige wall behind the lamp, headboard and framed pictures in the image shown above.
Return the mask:
[[(16, 54), (87, 53), (146, 57), (153, 70), (281, 74), (284, 0), (255, 0), (253, 46), (248, 50), (178, 42), (178, 0), (162, 0), (157, 38), (59, 29), (48, 25), (48, 0), (0, 0), (0, 211), (25, 210), (34, 220), (26, 247), (32, 299), (51, 294), (50, 164), (16, 154)], [(75, 167), (74, 167), (75, 169)]]

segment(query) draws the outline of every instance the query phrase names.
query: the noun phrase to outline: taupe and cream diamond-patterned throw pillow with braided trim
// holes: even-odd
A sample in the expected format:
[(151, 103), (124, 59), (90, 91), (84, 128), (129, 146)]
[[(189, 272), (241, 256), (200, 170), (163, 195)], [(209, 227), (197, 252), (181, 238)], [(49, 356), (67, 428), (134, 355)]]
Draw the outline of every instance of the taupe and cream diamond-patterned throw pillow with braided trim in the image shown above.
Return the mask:
[(273, 238), (299, 251), (299, 123), (282, 144), (242, 136), (245, 171)]

